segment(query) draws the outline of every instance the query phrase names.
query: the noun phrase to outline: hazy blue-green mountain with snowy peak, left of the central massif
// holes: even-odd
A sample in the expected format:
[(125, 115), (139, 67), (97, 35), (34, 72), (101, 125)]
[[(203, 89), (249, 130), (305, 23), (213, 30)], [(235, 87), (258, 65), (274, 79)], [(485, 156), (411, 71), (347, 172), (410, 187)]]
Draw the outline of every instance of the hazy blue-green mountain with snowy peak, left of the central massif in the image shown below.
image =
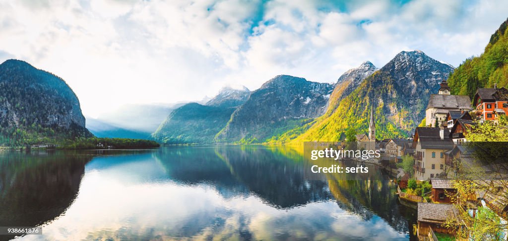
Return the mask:
[(249, 94), (245, 87), (240, 90), (225, 87), (206, 105), (185, 104), (173, 110), (152, 137), (166, 144), (212, 143), (233, 111), (247, 100)]

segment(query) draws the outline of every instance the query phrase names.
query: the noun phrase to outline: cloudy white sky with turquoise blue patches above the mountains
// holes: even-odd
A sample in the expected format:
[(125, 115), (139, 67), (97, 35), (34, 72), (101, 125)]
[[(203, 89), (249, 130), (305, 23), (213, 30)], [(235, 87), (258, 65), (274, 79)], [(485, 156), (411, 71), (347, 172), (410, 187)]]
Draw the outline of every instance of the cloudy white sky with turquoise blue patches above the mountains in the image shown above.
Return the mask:
[(334, 83), (371, 61), (421, 50), (458, 66), (480, 55), (508, 1), (0, 2), (0, 62), (63, 79), (83, 113), (250, 90), (278, 74)]

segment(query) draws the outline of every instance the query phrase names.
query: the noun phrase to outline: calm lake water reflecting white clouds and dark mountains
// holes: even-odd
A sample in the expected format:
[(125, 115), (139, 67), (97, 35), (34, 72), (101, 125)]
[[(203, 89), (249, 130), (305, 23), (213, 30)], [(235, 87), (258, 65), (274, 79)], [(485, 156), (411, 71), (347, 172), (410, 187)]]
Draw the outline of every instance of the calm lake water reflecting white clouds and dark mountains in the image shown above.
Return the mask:
[(20, 240), (414, 239), (416, 211), (375, 167), (320, 181), (305, 166), (265, 146), (2, 151), (0, 226), (42, 226)]

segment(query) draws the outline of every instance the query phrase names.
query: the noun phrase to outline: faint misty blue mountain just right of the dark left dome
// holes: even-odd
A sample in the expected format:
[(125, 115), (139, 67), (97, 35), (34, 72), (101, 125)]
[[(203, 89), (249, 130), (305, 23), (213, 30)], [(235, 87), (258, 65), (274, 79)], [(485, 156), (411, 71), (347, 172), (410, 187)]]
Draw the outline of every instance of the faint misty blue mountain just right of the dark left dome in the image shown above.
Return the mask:
[(86, 129), (97, 137), (150, 139), (149, 132), (121, 128), (94, 118), (86, 118)]

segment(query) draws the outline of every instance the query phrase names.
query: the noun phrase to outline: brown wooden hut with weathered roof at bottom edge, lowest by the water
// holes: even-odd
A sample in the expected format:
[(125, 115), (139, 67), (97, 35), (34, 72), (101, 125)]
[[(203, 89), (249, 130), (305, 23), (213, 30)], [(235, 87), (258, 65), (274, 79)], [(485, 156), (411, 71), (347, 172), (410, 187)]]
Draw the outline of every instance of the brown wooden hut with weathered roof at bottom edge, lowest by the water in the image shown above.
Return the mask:
[[(455, 235), (462, 221), (459, 211), (451, 204), (418, 203), (418, 230), (419, 240), (428, 240), (429, 233), (444, 233)], [(448, 228), (443, 224), (451, 221), (457, 228)], [(432, 235), (431, 235), (432, 236)]]

